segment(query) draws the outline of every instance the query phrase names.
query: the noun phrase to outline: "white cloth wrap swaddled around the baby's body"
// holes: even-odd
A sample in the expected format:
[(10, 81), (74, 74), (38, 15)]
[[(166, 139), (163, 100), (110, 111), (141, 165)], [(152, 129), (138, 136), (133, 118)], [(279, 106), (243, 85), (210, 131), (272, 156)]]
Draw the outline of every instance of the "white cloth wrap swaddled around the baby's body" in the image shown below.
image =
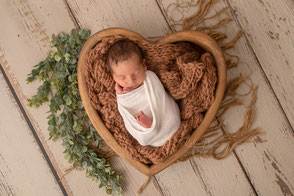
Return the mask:
[[(126, 129), (142, 145), (162, 146), (178, 130), (181, 119), (176, 102), (165, 91), (157, 75), (147, 70), (139, 88), (116, 94), (118, 110)], [(152, 120), (150, 128), (141, 126), (135, 116), (143, 111)]]

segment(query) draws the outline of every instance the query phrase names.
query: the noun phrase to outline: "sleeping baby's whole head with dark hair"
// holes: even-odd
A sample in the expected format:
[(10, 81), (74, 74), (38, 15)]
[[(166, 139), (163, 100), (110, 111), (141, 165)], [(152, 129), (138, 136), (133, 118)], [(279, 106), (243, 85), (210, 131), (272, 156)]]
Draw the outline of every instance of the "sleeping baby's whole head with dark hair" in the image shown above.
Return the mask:
[(139, 47), (130, 40), (119, 40), (107, 52), (106, 63), (116, 83), (128, 91), (145, 80), (145, 59)]

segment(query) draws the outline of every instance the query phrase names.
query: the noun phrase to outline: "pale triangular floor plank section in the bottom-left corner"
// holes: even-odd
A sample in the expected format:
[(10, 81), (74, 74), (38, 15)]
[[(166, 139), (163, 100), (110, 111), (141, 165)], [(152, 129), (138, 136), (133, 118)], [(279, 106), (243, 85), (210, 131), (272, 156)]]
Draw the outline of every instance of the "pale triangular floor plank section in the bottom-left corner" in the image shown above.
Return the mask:
[(0, 101), (0, 195), (63, 195), (1, 72)]

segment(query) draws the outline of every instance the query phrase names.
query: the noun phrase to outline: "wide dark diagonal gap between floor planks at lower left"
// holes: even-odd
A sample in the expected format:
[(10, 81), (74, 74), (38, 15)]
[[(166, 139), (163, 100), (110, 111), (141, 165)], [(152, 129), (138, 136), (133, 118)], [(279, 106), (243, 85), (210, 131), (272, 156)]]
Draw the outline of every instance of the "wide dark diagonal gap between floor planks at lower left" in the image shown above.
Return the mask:
[(13, 95), (13, 97), (14, 97), (14, 99), (15, 99), (17, 105), (18, 105), (18, 107), (20, 108), (21, 113), (22, 113), (22, 115), (24, 116), (24, 118), (25, 118), (25, 120), (26, 120), (26, 122), (27, 122), (27, 124), (28, 124), (28, 126), (29, 126), (29, 128), (30, 128), (30, 130), (31, 130), (31, 132), (32, 132), (32, 134), (33, 134), (33, 136), (34, 136), (34, 138), (35, 138), (37, 144), (38, 144), (38, 146), (40, 147), (40, 150), (41, 150), (41, 152), (42, 152), (42, 154), (43, 154), (45, 160), (47, 161), (47, 164), (48, 164), (48, 166), (49, 166), (51, 172), (53, 173), (53, 175), (54, 175), (54, 177), (55, 177), (55, 180), (56, 180), (57, 184), (59, 185), (59, 187), (60, 187), (60, 189), (61, 189), (63, 195), (67, 196), (68, 194), (67, 194), (67, 192), (66, 192), (66, 190), (65, 190), (65, 188), (64, 188), (64, 186), (63, 186), (63, 184), (62, 184), (62, 183), (60, 182), (60, 180), (59, 180), (59, 177), (58, 177), (57, 171), (55, 170), (55, 168), (54, 168), (54, 166), (53, 166), (53, 164), (52, 164), (52, 162), (51, 162), (51, 160), (50, 160), (50, 158), (49, 158), (49, 156), (48, 156), (48, 154), (47, 154), (45, 148), (44, 148), (43, 145), (42, 145), (42, 142), (41, 142), (40, 138), (38, 137), (38, 134), (36, 133), (36, 130), (34, 129), (34, 127), (33, 127), (32, 123), (31, 123), (31, 121), (29, 120), (29, 118), (28, 118), (28, 116), (27, 116), (27, 114), (26, 114), (26, 112), (25, 112), (25, 110), (24, 110), (22, 104), (20, 103), (20, 100), (18, 99), (18, 97), (17, 97), (17, 95), (16, 95), (16, 92), (15, 92), (15, 90), (14, 90), (12, 84), (10, 83), (10, 81), (9, 81), (9, 79), (8, 79), (8, 77), (7, 77), (7, 75), (6, 75), (6, 73), (5, 73), (5, 71), (4, 71), (4, 69), (3, 69), (3, 67), (2, 67), (1, 64), (0, 64), (0, 71), (1, 71), (1, 73), (3, 74), (4, 79), (5, 79), (5, 81), (6, 81), (7, 85), (8, 85), (8, 87), (9, 87), (9, 89), (10, 89), (10, 91), (11, 91), (11, 94)]

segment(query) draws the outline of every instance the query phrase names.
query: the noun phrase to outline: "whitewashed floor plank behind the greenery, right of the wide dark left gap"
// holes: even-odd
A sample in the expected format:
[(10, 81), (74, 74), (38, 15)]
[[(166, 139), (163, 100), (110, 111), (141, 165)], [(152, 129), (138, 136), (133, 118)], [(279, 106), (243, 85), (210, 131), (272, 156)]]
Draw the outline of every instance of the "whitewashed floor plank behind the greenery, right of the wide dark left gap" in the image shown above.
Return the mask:
[[(71, 165), (63, 155), (62, 141), (49, 141), (48, 105), (27, 107), (26, 98), (33, 96), (39, 82), (26, 83), (33, 66), (49, 53), (48, 40), (52, 33), (67, 32), (75, 28), (67, 7), (62, 1), (0, 1), (0, 63), (3, 65), (38, 137), (53, 163), (59, 177)], [(103, 195), (105, 191), (88, 179), (84, 172), (72, 171), (61, 180), (69, 195)], [(76, 192), (73, 192), (75, 190)]]

